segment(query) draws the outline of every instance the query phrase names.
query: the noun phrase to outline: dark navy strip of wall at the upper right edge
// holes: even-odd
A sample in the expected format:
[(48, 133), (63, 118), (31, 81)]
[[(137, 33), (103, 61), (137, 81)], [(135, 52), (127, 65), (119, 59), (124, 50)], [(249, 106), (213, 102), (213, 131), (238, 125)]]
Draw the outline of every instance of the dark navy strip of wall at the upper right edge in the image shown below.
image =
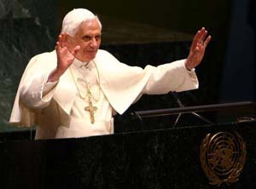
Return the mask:
[(220, 101), (256, 100), (254, 0), (234, 1)]

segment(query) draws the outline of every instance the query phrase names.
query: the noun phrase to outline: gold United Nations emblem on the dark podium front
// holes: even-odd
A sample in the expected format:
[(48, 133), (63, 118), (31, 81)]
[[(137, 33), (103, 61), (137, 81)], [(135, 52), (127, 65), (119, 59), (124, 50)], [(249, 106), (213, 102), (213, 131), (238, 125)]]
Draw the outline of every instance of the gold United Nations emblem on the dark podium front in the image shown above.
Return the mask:
[(211, 185), (239, 180), (246, 162), (246, 143), (236, 132), (208, 134), (201, 143), (201, 167)]

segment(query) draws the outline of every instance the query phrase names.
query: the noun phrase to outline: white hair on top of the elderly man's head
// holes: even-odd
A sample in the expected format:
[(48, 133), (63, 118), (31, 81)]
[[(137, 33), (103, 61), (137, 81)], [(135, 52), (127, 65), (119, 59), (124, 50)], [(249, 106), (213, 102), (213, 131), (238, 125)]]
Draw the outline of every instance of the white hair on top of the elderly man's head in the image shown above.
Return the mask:
[(66, 14), (62, 21), (62, 29), (61, 32), (65, 32), (68, 35), (74, 37), (77, 31), (79, 30), (79, 26), (86, 21), (97, 20), (100, 28), (102, 30), (102, 23), (99, 18), (90, 12), (88, 9), (73, 9), (69, 13)]

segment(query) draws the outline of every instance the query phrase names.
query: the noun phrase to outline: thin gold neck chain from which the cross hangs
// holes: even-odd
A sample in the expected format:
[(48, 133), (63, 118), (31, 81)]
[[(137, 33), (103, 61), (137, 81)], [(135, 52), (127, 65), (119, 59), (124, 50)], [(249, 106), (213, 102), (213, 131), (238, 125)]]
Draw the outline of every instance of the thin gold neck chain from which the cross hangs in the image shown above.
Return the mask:
[[(92, 60), (92, 62), (93, 62), (93, 64), (96, 66), (95, 61)], [(99, 70), (98, 70), (98, 67), (97, 67), (97, 66), (96, 66), (96, 71), (97, 71), (97, 75), (98, 75), (98, 79), (99, 79), (99, 82), (98, 82), (98, 98), (97, 98), (97, 99), (96, 99), (96, 98), (94, 97), (94, 95), (90, 92), (89, 83), (88, 83), (86, 77), (84, 76), (84, 74), (82, 74), (82, 76), (84, 77), (84, 80), (85, 80), (85, 83), (86, 83), (87, 94), (86, 94), (85, 97), (83, 97), (83, 95), (82, 95), (81, 92), (80, 92), (79, 85), (78, 85), (78, 83), (77, 83), (75, 77), (73, 76), (73, 71), (72, 71), (71, 67), (69, 67), (69, 70), (70, 70), (71, 75), (72, 75), (72, 77), (73, 77), (73, 81), (74, 81), (74, 83), (75, 83), (75, 85), (76, 85), (76, 87), (77, 87), (77, 89), (78, 89), (78, 91), (79, 91), (79, 96), (81, 97), (81, 99), (85, 99), (85, 98), (88, 96), (88, 100), (89, 100), (89, 101), (91, 100), (91, 97), (92, 97), (94, 100), (96, 100), (96, 101), (100, 100), (100, 97), (101, 97), (101, 77), (100, 77), (100, 73), (99, 73)]]

